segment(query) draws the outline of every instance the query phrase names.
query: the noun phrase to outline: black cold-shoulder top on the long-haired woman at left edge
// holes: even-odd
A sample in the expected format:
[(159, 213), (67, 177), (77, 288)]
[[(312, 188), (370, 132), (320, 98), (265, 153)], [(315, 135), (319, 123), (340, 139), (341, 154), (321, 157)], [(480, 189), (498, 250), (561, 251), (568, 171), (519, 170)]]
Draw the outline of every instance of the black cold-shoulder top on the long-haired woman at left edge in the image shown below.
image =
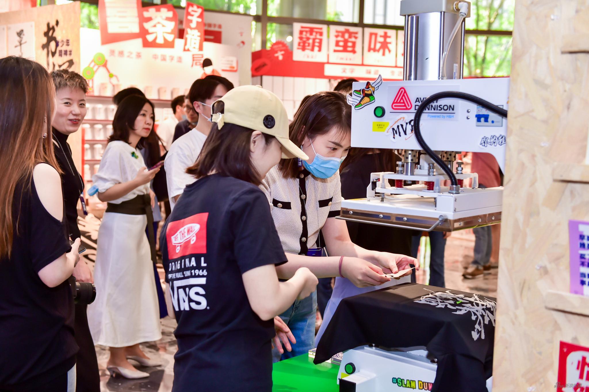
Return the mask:
[[(67, 281), (38, 272), (71, 250), (64, 224), (42, 205), (34, 181), (16, 185), (12, 253), (0, 257), (0, 390), (35, 388), (75, 364), (74, 299)], [(18, 224), (17, 224), (18, 222)]]

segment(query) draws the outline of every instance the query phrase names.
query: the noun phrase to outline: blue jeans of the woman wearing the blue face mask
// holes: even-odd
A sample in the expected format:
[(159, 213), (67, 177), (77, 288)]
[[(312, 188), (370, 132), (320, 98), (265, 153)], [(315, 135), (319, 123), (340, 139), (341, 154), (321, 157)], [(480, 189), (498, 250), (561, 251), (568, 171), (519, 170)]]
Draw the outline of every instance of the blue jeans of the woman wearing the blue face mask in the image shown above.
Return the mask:
[(292, 344), (293, 350), (286, 351), (280, 355), (276, 347), (272, 350), (272, 362), (282, 361), (288, 358), (297, 357), (309, 353), (315, 341), (315, 314), (317, 312), (317, 292), (304, 300), (296, 300), (280, 318), (289, 326), (292, 331), (296, 344)]

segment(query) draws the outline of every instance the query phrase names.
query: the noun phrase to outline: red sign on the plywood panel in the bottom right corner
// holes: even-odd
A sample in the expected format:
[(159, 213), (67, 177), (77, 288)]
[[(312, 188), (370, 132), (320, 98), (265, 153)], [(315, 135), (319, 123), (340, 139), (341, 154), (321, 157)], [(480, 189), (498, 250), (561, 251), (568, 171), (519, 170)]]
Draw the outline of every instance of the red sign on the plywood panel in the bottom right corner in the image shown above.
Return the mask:
[(560, 342), (556, 392), (589, 392), (589, 347)]

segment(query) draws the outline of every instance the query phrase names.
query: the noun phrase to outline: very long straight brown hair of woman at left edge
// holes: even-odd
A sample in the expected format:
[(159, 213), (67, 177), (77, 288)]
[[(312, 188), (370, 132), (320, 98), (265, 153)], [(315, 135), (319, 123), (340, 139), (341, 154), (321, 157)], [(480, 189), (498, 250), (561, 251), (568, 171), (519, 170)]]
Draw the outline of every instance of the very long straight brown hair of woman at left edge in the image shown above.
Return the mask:
[(60, 170), (51, 135), (55, 90), (47, 70), (31, 60), (5, 57), (0, 59), (0, 80), (0, 257), (9, 257), (16, 184), (25, 181), (29, 188), (39, 162)]

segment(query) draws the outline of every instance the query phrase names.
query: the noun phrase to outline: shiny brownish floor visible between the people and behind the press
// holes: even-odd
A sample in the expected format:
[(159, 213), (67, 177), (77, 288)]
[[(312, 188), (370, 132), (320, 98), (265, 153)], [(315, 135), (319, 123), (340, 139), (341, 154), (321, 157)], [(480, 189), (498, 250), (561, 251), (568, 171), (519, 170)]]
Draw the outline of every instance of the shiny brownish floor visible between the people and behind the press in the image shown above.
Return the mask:
[[(490, 275), (479, 277), (474, 280), (462, 278), (463, 267), (472, 260), (472, 249), (474, 247), (474, 235), (471, 230), (454, 232), (448, 238), (445, 252), (445, 280), (446, 287), (455, 290), (480, 293), (497, 297), (497, 268), (491, 270)], [(163, 270), (160, 270), (163, 277)], [(418, 273), (418, 283), (423, 283), (422, 273)], [(110, 377), (105, 369), (108, 360), (108, 350), (105, 347), (97, 346), (98, 365), (101, 374), (101, 391), (131, 392), (150, 391), (168, 392), (171, 391), (174, 379), (174, 353), (177, 350), (176, 339), (173, 331), (176, 321), (166, 317), (162, 320), (161, 340), (154, 343), (143, 344), (143, 349), (150, 357), (157, 357), (163, 361), (163, 366), (154, 368), (138, 367), (141, 371), (150, 373), (149, 378), (142, 380), (127, 380), (122, 377)]]

